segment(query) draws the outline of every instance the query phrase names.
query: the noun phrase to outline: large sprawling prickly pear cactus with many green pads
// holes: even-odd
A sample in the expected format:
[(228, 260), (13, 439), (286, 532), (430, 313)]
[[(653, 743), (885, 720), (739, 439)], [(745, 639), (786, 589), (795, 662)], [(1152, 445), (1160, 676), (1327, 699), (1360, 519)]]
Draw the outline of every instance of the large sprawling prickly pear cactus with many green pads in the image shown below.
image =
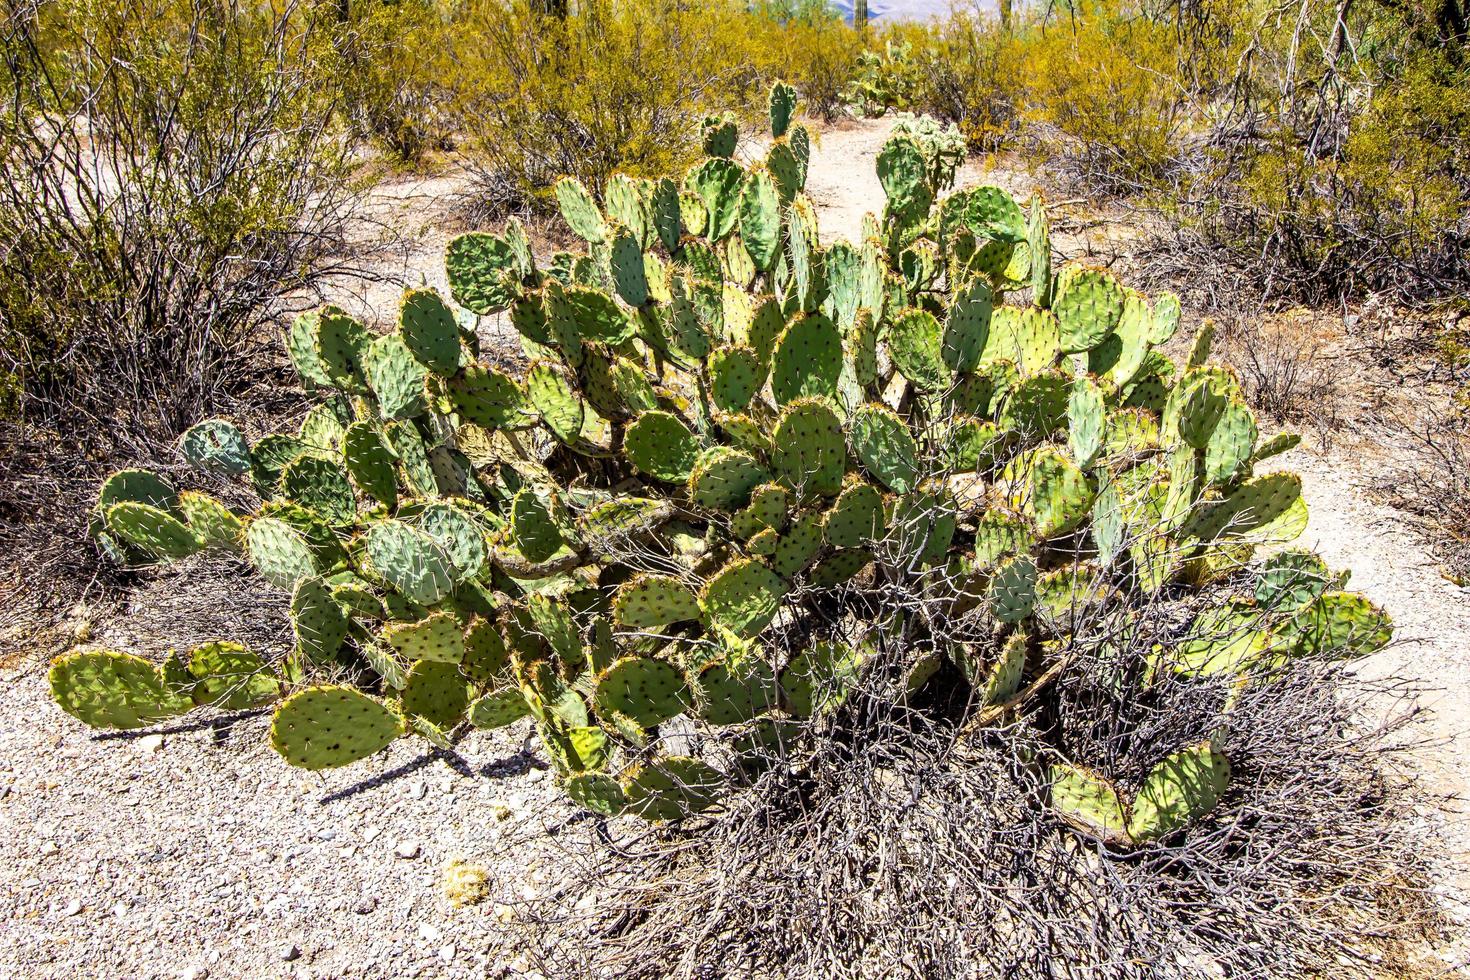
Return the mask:
[[(409, 291), (392, 332), (297, 319), (285, 347), (320, 394), (300, 429), (250, 444), (216, 419), (181, 442), (253, 513), (125, 470), (94, 516), (123, 561), (240, 552), (290, 591), (295, 649), (74, 651), (57, 702), (135, 727), (284, 698), (270, 743), (306, 768), (529, 717), (578, 804), (670, 820), (792, 758), (860, 683), (1025, 710), (1105, 610), (1192, 611), (1141, 685), (1388, 641), (1319, 558), (1272, 551), (1307, 511), (1297, 476), (1257, 467), (1294, 438), (1261, 438), (1208, 331), (1183, 363), (1160, 350), (1175, 297), (1054, 269), (1039, 198), (947, 194), (916, 125), (878, 157), (863, 241), (823, 245), (794, 109), (778, 85), (750, 165), (720, 118), (682, 181), (563, 179), (579, 253), (538, 263), (514, 220), (456, 238), (453, 303)], [(479, 357), (490, 314), (523, 372)], [(1136, 792), (1038, 764), (1063, 817), (1119, 842), (1229, 782), (1208, 742)]]

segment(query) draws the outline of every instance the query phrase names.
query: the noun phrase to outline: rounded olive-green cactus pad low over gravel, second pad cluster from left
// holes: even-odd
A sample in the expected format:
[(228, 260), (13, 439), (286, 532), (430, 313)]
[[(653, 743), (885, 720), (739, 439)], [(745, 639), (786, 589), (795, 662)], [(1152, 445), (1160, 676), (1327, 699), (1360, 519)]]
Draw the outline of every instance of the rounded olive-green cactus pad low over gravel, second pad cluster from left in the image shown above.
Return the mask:
[(376, 755), (403, 735), (403, 718), (353, 688), (298, 691), (270, 718), (270, 748), (300, 768), (332, 768)]

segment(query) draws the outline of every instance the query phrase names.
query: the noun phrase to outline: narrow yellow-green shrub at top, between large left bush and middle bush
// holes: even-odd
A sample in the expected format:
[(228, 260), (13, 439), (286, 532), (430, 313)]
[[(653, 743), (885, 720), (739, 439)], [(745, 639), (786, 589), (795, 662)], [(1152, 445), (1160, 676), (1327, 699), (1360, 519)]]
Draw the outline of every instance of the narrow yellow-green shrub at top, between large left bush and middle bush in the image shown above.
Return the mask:
[(319, 0), (316, 71), (337, 87), (356, 135), (413, 163), (450, 143), (450, 10), (440, 0)]

